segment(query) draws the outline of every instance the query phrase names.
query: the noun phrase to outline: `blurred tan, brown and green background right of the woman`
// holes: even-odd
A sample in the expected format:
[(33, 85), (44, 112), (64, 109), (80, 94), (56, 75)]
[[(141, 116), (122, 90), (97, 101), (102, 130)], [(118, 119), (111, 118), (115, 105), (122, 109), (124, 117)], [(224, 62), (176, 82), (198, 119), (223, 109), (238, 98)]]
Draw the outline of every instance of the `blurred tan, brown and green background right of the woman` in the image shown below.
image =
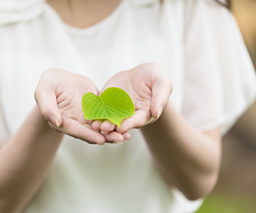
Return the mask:
[[(256, 0), (232, 0), (232, 13), (256, 66)], [(224, 136), (219, 180), (196, 213), (256, 212), (256, 103)]]

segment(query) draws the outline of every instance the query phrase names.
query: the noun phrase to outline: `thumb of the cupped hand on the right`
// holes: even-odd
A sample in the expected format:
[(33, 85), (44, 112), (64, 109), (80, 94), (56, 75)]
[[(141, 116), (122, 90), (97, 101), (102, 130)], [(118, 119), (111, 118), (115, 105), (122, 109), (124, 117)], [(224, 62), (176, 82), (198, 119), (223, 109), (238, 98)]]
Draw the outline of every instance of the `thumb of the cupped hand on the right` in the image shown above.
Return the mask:
[(158, 119), (168, 103), (172, 91), (171, 80), (166, 75), (157, 79), (152, 86), (151, 114)]

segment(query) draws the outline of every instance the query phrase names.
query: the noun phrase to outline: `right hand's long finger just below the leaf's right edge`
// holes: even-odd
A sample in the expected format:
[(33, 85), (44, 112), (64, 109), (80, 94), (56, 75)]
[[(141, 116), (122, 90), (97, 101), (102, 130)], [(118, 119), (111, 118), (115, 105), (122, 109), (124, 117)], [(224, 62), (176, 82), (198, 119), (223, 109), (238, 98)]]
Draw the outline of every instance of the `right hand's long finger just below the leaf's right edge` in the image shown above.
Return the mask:
[(132, 128), (140, 128), (147, 125), (151, 121), (151, 113), (149, 110), (135, 111), (132, 117), (124, 119), (120, 127), (116, 127), (118, 133), (124, 133)]

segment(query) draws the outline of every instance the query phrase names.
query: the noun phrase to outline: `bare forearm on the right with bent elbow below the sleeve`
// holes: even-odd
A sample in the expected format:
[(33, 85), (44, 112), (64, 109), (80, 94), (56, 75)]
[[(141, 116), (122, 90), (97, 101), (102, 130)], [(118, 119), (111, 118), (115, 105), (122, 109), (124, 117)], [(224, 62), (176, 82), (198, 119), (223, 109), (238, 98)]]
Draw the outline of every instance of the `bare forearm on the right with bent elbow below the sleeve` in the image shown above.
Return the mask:
[(162, 116), (141, 128), (158, 169), (186, 197), (202, 197), (215, 186), (221, 160), (221, 137), (200, 133), (168, 103)]

